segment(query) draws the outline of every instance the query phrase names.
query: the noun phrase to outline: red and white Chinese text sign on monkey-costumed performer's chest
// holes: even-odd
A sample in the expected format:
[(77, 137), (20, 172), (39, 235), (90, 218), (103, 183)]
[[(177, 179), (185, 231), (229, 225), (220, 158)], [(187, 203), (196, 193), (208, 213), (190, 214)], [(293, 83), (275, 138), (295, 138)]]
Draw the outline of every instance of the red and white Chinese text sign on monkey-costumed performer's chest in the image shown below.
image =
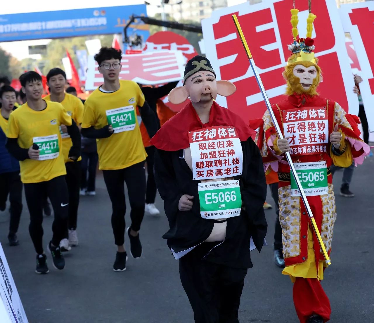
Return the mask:
[(291, 155), (325, 153), (329, 138), (325, 107), (283, 111), (283, 132), (289, 137)]

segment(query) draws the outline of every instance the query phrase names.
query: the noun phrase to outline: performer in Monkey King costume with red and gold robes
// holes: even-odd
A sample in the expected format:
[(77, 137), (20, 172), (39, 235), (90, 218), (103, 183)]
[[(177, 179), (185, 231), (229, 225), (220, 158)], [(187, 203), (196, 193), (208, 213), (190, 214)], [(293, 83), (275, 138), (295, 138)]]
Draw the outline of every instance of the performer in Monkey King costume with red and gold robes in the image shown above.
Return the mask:
[(279, 221), (286, 265), (282, 273), (289, 275), (294, 283), (297, 316), (302, 323), (322, 323), (327, 322), (331, 314), (329, 299), (320, 283), (326, 263), (318, 240), (312, 234), (300, 191), (282, 154), (288, 150), (291, 154), (325, 248), (330, 253), (336, 219), (330, 165), (348, 167), (353, 160), (361, 164), (370, 148), (359, 138), (358, 118), (346, 114), (337, 102), (324, 99), (316, 92), (322, 81), (313, 52), (314, 40), (310, 38), (316, 16), (309, 13), (307, 37), (297, 39), (297, 13), (297, 9), (291, 10), (294, 42), (288, 46), (292, 55), (283, 72), (288, 97), (272, 106), (285, 139), (277, 138), (266, 111), (256, 142), (266, 169), (271, 167), (278, 172)]

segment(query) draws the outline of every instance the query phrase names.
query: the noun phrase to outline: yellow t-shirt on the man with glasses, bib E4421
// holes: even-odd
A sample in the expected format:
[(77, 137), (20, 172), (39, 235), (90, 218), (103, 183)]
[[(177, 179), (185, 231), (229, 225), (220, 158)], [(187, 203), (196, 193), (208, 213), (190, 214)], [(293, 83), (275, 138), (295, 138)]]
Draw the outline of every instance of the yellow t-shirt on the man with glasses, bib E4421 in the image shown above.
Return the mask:
[(136, 107), (144, 105), (144, 95), (137, 83), (119, 82), (117, 91), (105, 93), (97, 88), (85, 102), (82, 128), (101, 129), (110, 120), (115, 129), (110, 137), (97, 140), (99, 169), (123, 169), (147, 157), (136, 117)]

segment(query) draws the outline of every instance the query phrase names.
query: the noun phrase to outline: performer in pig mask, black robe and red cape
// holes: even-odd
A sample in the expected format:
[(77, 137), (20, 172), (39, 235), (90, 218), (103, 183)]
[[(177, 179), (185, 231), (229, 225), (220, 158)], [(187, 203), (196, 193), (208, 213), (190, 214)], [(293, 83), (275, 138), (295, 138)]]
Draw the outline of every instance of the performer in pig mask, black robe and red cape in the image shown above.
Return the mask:
[(161, 127), (154, 177), (164, 200), (169, 231), (163, 236), (175, 259), (197, 323), (235, 323), (250, 247), (261, 250), (267, 231), (266, 182), (255, 132), (218, 105), (234, 84), (216, 81), (207, 58), (195, 56), (184, 86), (169, 101), (188, 103)]

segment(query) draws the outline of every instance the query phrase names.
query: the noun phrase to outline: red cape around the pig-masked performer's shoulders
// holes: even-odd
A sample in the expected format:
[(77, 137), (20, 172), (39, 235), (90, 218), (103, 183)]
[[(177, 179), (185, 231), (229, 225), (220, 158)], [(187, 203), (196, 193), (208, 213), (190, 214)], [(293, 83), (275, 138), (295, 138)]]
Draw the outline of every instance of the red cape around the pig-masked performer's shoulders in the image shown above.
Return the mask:
[(203, 124), (190, 102), (163, 124), (150, 140), (150, 144), (166, 151), (185, 149), (190, 146), (189, 131), (213, 126), (234, 126), (240, 141), (246, 141), (256, 133), (238, 115), (221, 107), (215, 101), (212, 104), (208, 123)]

